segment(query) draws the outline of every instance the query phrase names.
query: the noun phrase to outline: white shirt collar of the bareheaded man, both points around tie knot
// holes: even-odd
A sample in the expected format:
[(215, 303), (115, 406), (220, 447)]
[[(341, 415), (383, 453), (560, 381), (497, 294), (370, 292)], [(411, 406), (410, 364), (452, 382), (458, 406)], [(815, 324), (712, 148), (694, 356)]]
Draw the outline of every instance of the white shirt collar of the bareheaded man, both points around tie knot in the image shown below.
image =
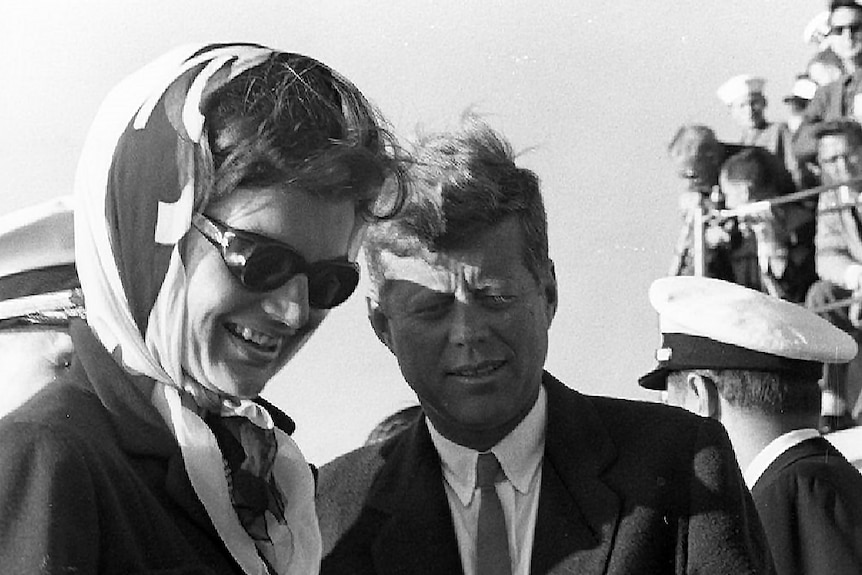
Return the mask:
[[(539, 470), (545, 451), (545, 424), (548, 419), (548, 400), (544, 387), (526, 417), (509, 435), (491, 448), (497, 456), (506, 479), (521, 494), (530, 490), (533, 477)], [(425, 422), (431, 441), (440, 455), (443, 478), (464, 506), (470, 504), (476, 490), (476, 460), (479, 452), (459, 445), (440, 434), (427, 417)]]

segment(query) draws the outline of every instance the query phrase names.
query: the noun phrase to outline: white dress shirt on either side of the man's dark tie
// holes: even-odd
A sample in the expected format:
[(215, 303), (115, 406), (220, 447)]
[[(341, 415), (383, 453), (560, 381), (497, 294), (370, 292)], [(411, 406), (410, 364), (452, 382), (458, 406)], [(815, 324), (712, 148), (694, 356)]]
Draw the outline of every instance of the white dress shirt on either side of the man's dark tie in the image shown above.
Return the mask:
[[(547, 402), (545, 388), (541, 387), (536, 403), (523, 421), (491, 448), (506, 476), (497, 484), (497, 495), (506, 517), (512, 575), (530, 573), (545, 451)], [(425, 421), (431, 441), (440, 454), (443, 486), (452, 511), (461, 565), (465, 575), (475, 575), (480, 499), (476, 488), (476, 460), (479, 452), (449, 441), (427, 418)]]

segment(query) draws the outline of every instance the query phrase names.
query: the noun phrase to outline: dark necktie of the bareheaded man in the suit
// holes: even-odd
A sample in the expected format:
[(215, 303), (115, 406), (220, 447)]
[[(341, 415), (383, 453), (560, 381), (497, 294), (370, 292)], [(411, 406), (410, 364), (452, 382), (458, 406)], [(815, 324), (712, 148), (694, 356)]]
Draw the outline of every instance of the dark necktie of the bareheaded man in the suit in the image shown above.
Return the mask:
[(502, 475), (497, 457), (480, 453), (476, 461), (479, 488), (479, 528), (476, 534), (476, 575), (511, 575), (506, 517), (495, 485)]

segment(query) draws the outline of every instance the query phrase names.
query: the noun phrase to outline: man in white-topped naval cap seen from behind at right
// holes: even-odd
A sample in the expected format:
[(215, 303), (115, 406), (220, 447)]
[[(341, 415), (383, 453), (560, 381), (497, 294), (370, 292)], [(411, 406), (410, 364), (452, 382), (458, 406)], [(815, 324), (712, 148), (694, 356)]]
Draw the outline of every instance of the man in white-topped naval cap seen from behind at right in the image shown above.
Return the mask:
[(862, 573), (862, 475), (817, 431), (822, 362), (856, 355), (801, 306), (709, 278), (662, 278), (659, 367), (640, 379), (720, 421), (781, 574)]

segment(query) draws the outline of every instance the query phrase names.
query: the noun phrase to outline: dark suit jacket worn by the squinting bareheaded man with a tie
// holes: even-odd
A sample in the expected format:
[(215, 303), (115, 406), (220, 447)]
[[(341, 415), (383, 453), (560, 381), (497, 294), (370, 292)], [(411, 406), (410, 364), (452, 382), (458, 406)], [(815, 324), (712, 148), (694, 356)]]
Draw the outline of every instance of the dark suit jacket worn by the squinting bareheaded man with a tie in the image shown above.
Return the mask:
[[(772, 572), (720, 424), (581, 395), (546, 374), (532, 573)], [(461, 573), (424, 420), (320, 470), (321, 573)]]

